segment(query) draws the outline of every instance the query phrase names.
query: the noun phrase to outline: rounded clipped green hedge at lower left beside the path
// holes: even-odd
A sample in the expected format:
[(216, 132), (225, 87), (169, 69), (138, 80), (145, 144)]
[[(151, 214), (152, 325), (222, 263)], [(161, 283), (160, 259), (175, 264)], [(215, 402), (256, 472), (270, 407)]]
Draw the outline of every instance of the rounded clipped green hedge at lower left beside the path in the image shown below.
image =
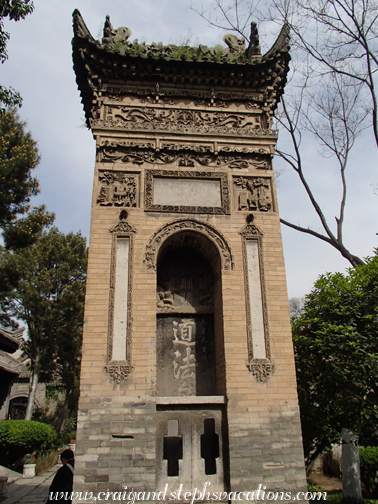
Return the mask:
[(11, 465), (27, 453), (46, 453), (58, 440), (51, 425), (27, 420), (0, 422), (0, 464)]

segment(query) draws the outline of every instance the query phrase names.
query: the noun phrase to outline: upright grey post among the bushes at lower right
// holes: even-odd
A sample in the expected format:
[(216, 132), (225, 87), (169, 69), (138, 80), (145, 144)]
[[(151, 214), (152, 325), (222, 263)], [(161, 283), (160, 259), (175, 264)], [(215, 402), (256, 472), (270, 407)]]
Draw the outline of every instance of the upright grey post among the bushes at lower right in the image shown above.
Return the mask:
[(360, 454), (358, 436), (349, 429), (341, 430), (342, 455), (341, 469), (343, 472), (343, 503), (363, 503), (361, 492)]

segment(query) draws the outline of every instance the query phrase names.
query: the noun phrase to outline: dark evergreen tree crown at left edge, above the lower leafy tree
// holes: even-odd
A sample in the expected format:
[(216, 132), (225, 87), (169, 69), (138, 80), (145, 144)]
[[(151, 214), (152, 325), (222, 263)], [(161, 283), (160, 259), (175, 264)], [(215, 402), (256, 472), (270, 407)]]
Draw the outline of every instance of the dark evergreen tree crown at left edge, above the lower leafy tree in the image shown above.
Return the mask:
[(0, 115), (0, 226), (28, 209), (39, 192), (32, 170), (39, 162), (36, 142), (14, 111)]

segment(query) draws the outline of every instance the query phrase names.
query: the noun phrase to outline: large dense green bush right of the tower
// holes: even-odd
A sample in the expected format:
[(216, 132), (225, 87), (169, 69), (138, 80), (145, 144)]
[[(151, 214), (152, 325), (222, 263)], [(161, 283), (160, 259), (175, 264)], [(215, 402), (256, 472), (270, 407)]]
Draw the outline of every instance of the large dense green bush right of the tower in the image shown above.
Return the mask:
[(307, 462), (340, 440), (342, 427), (373, 443), (378, 421), (378, 257), (322, 275), (293, 323)]

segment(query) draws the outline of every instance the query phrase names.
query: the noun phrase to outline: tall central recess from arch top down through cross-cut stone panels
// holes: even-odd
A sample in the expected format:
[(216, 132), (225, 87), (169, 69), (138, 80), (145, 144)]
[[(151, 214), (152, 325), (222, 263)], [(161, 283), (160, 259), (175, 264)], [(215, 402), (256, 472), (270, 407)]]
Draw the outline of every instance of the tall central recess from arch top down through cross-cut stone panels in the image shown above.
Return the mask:
[(220, 258), (203, 235), (164, 242), (157, 261), (157, 488), (224, 490)]

